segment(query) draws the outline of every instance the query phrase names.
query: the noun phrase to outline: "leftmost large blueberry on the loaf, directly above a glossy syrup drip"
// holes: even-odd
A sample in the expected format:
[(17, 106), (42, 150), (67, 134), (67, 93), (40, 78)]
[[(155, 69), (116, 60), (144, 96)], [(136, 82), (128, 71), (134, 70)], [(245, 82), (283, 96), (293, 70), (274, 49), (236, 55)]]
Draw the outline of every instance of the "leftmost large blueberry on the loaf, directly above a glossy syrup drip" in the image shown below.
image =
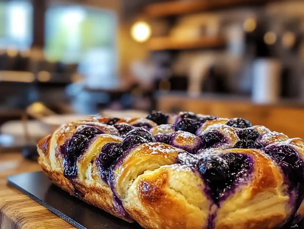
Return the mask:
[(81, 134), (75, 134), (71, 137), (66, 147), (67, 158), (71, 161), (75, 161), (79, 155), (81, 155), (88, 142), (89, 139)]

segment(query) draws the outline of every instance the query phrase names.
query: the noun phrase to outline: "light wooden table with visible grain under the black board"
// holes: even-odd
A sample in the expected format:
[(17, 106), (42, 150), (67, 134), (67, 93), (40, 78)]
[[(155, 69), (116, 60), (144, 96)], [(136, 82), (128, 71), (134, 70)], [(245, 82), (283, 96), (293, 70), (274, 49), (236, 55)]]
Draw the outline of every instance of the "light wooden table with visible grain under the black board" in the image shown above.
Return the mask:
[(24, 160), (20, 153), (0, 154), (0, 229), (74, 228), (6, 184), (6, 177), (9, 175), (39, 170), (37, 163)]

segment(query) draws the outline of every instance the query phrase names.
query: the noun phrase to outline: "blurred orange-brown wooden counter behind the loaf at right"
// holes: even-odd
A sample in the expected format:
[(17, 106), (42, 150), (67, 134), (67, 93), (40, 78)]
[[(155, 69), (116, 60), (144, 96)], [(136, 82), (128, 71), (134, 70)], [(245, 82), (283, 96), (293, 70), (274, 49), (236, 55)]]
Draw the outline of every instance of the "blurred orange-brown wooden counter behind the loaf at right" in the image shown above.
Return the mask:
[(253, 125), (263, 125), (288, 137), (304, 139), (304, 102), (282, 99), (275, 104), (255, 104), (249, 96), (187, 93), (158, 93), (157, 109), (170, 113), (192, 111), (219, 117), (242, 117)]

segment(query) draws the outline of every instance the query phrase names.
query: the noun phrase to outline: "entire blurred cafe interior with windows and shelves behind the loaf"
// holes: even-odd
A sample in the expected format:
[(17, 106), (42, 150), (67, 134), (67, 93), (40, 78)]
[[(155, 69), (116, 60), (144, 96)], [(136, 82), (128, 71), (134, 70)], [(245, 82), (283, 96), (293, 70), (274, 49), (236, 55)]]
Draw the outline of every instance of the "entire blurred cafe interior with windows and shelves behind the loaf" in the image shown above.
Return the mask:
[(1, 152), (155, 109), (304, 138), (304, 1), (0, 0)]

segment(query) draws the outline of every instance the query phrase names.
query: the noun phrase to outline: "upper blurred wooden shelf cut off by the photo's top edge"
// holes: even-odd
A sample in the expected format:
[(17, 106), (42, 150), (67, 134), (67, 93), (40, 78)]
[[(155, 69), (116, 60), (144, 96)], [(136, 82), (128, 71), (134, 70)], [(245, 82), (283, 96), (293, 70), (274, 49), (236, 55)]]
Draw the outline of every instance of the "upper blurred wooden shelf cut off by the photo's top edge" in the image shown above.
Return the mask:
[(261, 4), (274, 0), (188, 0), (160, 2), (148, 5), (144, 8), (144, 13), (148, 17), (164, 17), (179, 14), (195, 13), (212, 9), (219, 9), (245, 4)]

